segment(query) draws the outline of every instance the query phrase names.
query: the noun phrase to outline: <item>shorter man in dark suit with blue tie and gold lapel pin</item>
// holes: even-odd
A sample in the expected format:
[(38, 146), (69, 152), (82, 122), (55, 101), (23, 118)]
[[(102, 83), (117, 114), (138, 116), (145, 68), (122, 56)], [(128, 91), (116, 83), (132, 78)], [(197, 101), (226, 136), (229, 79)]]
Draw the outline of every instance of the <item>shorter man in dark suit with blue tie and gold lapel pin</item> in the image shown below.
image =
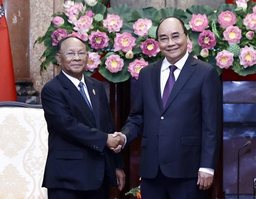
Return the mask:
[[(41, 98), (49, 132), (43, 187), (49, 199), (109, 199), (109, 184), (124, 187), (123, 159), (108, 147), (115, 126), (102, 83), (83, 75), (84, 42), (66, 37), (58, 43), (61, 72), (45, 84)], [(117, 139), (116, 139), (117, 138)]]

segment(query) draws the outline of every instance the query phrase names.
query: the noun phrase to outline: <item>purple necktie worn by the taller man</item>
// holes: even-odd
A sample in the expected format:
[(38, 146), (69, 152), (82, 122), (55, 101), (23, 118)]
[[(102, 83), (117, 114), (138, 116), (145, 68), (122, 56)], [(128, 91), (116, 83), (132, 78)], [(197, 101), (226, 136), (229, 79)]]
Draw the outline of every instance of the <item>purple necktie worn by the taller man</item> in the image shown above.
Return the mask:
[(164, 87), (164, 92), (163, 92), (163, 97), (162, 97), (162, 103), (163, 103), (163, 109), (165, 107), (165, 104), (170, 96), (170, 93), (172, 91), (172, 87), (175, 83), (175, 77), (173, 72), (177, 69), (177, 67), (175, 65), (170, 65), (170, 74), (169, 77), (166, 81), (165, 87)]

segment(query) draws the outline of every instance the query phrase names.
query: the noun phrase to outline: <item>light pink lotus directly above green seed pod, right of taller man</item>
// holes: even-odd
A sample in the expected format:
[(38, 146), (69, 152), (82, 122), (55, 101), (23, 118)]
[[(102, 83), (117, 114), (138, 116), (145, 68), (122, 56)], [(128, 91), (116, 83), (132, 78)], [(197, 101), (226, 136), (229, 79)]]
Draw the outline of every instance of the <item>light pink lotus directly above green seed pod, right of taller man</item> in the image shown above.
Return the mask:
[(228, 26), (223, 32), (223, 40), (228, 41), (228, 44), (240, 43), (242, 38), (242, 30), (237, 26)]

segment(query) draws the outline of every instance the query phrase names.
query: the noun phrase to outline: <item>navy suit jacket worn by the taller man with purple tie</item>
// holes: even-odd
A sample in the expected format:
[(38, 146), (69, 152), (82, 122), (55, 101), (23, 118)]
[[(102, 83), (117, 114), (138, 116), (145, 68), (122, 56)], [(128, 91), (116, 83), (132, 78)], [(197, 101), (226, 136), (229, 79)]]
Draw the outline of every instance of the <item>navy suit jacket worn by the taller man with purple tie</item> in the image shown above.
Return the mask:
[(212, 65), (189, 55), (163, 110), (162, 61), (141, 69), (133, 112), (121, 132), (127, 143), (142, 134), (141, 177), (156, 177), (159, 165), (167, 177), (197, 177), (199, 167), (217, 166), (222, 111), (220, 77)]

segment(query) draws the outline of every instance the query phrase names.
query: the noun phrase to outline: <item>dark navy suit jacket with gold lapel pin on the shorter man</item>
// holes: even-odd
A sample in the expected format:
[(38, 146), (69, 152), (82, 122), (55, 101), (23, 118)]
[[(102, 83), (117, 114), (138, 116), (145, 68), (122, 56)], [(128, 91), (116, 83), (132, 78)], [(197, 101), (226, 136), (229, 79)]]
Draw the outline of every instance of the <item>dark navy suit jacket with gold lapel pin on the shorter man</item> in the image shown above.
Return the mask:
[(115, 169), (124, 164), (121, 153), (116, 155), (105, 146), (108, 134), (115, 132), (108, 98), (100, 81), (86, 76), (84, 80), (94, 116), (64, 73), (42, 89), (49, 132), (43, 187), (95, 190), (100, 188), (105, 172), (117, 186)]

